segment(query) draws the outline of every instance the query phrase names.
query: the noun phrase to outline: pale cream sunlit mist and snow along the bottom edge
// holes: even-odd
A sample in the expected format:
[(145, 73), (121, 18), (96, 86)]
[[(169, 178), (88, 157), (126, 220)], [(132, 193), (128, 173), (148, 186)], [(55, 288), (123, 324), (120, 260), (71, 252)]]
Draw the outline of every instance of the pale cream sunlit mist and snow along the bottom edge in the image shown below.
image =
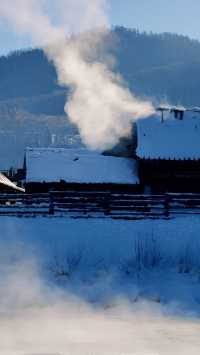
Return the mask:
[[(22, 316), (23, 314), (23, 316)], [(2, 355), (198, 355), (199, 322), (120, 303), (94, 310), (68, 301), (2, 317)]]

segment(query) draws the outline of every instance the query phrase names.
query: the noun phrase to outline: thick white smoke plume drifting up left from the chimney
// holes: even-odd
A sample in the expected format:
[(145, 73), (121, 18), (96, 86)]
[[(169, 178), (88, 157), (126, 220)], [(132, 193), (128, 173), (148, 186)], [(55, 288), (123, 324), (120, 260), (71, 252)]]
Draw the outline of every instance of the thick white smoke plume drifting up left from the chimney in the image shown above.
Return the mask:
[(130, 134), (134, 120), (154, 112), (97, 55), (106, 40), (107, 8), (105, 0), (0, 2), (0, 18), (18, 34), (29, 35), (54, 62), (60, 84), (71, 88), (67, 115), (84, 143), (99, 150), (115, 145)]

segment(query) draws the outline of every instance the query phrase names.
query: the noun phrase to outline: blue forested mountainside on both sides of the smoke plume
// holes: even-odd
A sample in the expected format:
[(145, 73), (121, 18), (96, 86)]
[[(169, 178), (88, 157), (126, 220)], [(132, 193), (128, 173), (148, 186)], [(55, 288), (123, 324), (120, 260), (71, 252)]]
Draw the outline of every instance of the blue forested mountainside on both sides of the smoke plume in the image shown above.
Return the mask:
[[(133, 92), (155, 103), (200, 105), (200, 42), (123, 27), (112, 36), (114, 70)], [(0, 58), (0, 168), (20, 165), (27, 145), (80, 144), (64, 117), (66, 97), (67, 88), (58, 86), (55, 68), (41, 50)]]

